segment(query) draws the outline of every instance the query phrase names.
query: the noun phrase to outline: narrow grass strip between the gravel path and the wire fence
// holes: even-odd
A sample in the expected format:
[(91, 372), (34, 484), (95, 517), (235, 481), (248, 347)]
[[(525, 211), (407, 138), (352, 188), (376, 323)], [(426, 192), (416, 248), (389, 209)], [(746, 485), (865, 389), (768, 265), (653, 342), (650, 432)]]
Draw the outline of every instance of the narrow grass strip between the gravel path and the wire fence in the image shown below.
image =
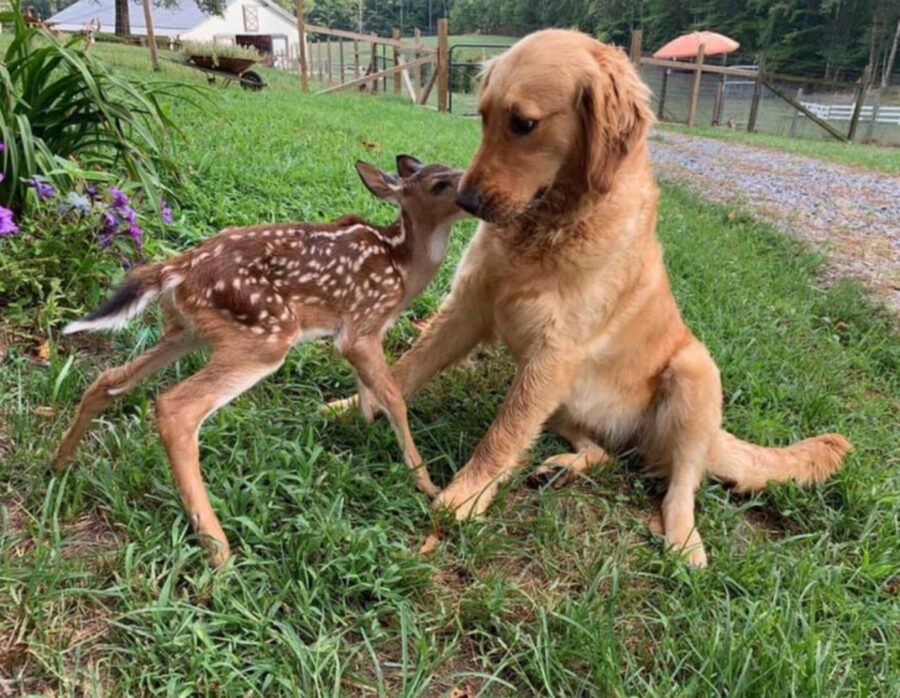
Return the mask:
[(724, 141), (744, 143), (757, 148), (784, 150), (797, 155), (808, 155), (820, 160), (832, 160), (846, 165), (858, 165), (888, 174), (900, 175), (900, 147), (878, 145), (862, 145), (859, 143), (839, 143), (807, 138), (789, 138), (773, 136), (765, 133), (747, 133), (732, 131), (724, 126), (695, 126), (688, 128), (683, 124), (659, 123), (658, 127), (667, 131), (718, 138)]

